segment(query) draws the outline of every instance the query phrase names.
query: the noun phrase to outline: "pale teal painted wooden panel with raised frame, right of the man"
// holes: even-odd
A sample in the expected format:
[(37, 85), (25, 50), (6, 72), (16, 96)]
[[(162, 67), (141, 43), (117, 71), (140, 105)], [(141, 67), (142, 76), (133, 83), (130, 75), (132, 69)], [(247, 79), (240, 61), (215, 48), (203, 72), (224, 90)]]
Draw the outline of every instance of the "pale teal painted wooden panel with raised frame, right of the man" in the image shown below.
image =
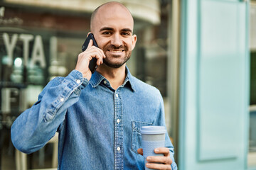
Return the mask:
[(181, 1), (181, 170), (247, 169), (248, 3)]

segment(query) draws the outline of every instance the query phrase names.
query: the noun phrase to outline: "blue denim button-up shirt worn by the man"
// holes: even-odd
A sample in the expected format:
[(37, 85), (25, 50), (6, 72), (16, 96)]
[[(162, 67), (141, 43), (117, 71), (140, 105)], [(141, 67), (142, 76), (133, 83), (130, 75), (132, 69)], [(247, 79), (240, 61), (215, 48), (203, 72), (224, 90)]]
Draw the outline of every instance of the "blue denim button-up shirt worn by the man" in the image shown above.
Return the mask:
[[(58, 169), (144, 169), (140, 128), (165, 125), (164, 103), (159, 90), (126, 72), (117, 90), (97, 72), (90, 81), (76, 70), (53, 79), (12, 125), (14, 146), (36, 152), (58, 132)], [(165, 147), (177, 169), (167, 132)]]

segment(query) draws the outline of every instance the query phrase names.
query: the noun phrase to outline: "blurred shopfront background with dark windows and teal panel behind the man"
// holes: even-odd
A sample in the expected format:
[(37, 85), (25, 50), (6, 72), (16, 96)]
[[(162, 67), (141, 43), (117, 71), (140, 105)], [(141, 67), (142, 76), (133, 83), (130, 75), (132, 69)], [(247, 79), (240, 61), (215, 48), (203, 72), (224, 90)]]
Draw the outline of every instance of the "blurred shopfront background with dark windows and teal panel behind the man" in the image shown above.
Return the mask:
[[(17, 162), (14, 164), (16, 152), (10, 140), (11, 124), (22, 111), (37, 101), (38, 94), (50, 79), (66, 76), (75, 68), (82, 43), (87, 32), (90, 31), (90, 14), (105, 2), (107, 1), (0, 1), (1, 169), (16, 169)], [(135, 77), (156, 86), (161, 91), (166, 108), (166, 125), (170, 137), (174, 140), (176, 160), (180, 169), (215, 169), (218, 165), (224, 166), (220, 169), (232, 169), (237, 164), (242, 164), (238, 169), (240, 167), (256, 169), (254, 126), (256, 120), (253, 106), (256, 105), (256, 96), (253, 92), (256, 82), (255, 1), (123, 0), (120, 2), (127, 6), (134, 16), (134, 33), (138, 37), (137, 46), (127, 65)], [(210, 6), (214, 7), (211, 13)], [(214, 13), (215, 10), (216, 12), (220, 10), (224, 17)], [(227, 11), (239, 15), (232, 16), (227, 14)], [(225, 26), (224, 23), (228, 21), (230, 25)], [(213, 23), (218, 24), (218, 27), (212, 26)], [(238, 27), (227, 37), (221, 37), (230, 32), (232, 26), (242, 24), (245, 28)], [(249, 26), (250, 33), (246, 30)], [(220, 30), (214, 31), (210, 28)], [(233, 38), (238, 32), (240, 37)], [(250, 43), (247, 43), (249, 35)], [(211, 43), (218, 42), (214, 39), (218, 36), (223, 41), (221, 42), (223, 45), (219, 43), (220, 46), (222, 45), (223, 49), (228, 48), (229, 51), (221, 49), (218, 43)], [(227, 45), (230, 41), (234, 43)], [(235, 44), (236, 41), (245, 43)], [(234, 55), (234, 47), (237, 47), (235, 45), (243, 48), (238, 51), (240, 55), (235, 55), (233, 60), (230, 56)], [(224, 53), (229, 57), (223, 57)], [(196, 57), (197, 55), (201, 57)], [(207, 60), (212, 55), (219, 57), (215, 61)], [(229, 74), (225, 69), (226, 65), (230, 65), (228, 68), (234, 72)], [(201, 69), (197, 69), (198, 67)], [(238, 72), (235, 72), (235, 67), (240, 68)], [(246, 72), (244, 67), (250, 67), (250, 71)], [(212, 72), (216, 72), (215, 69), (222, 70), (223, 74), (213, 74)], [(202, 71), (206, 73), (203, 74)], [(238, 74), (238, 79), (233, 78), (235, 73)], [(198, 81), (198, 75), (201, 81)], [(207, 78), (210, 77), (209, 75), (213, 76), (212, 79)], [(221, 75), (223, 76), (221, 79), (216, 78)], [(230, 80), (223, 81), (227, 77), (231, 77)], [(224, 90), (221, 87), (216, 90), (210, 89), (216, 86), (213, 83), (215, 81), (223, 81)], [(230, 94), (225, 93), (228, 86), (240, 81), (245, 81), (245, 84), (234, 86), (229, 91)], [(206, 85), (209, 89), (203, 89)], [(209, 90), (213, 93), (206, 93)], [(238, 96), (232, 94), (234, 91), (239, 92)], [(220, 95), (214, 96), (215, 93)], [(208, 98), (209, 95), (213, 98)], [(218, 103), (216, 98), (224, 98), (220, 100), (223, 105), (221, 102)], [(242, 104), (239, 104), (238, 100), (238, 107), (230, 109), (232, 103), (227, 101), (233, 98), (235, 100), (242, 98)], [(209, 106), (209, 103), (214, 103), (216, 107), (223, 109), (217, 110)], [(205, 107), (200, 108), (201, 105)], [(239, 112), (233, 114), (236, 110)], [(235, 118), (230, 119), (233, 116)], [(213, 118), (215, 124), (211, 124), (208, 118)], [(223, 118), (223, 121), (218, 118)], [(201, 123), (201, 120), (206, 120), (208, 125)], [(225, 137), (235, 129), (235, 123), (229, 123), (231, 120), (242, 127), (237, 135)], [(219, 125), (218, 128), (215, 128), (216, 124)], [(218, 140), (218, 132), (211, 128), (219, 130), (223, 140)], [(223, 131), (221, 135), (221, 130), (228, 131)], [(213, 133), (213, 139), (207, 135), (210, 132)], [(240, 135), (242, 140), (237, 138)], [(241, 147), (235, 152), (232, 152), (235, 146), (227, 144), (233, 140), (235, 140), (234, 145)], [(210, 149), (215, 148), (210, 147), (212, 145), (220, 145), (218, 149), (224, 148), (224, 151), (230, 154), (218, 154), (218, 149), (217, 152), (212, 152)], [(52, 150), (53, 146), (49, 145), (41, 151), (28, 155), (26, 161), (28, 169), (50, 167), (48, 162), (51, 159), (48, 158), (52, 157)], [(210, 154), (213, 157), (210, 157)], [(188, 161), (189, 157), (193, 157), (193, 161)]]

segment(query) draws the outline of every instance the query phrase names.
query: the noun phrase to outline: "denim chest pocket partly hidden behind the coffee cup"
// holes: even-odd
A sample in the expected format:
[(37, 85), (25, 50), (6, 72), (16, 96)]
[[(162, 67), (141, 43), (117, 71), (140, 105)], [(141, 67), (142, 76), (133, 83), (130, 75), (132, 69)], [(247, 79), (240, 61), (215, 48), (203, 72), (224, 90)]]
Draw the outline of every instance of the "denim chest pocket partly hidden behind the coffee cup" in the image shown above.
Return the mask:
[(149, 126), (152, 123), (132, 121), (132, 148), (131, 150), (138, 154), (137, 149), (142, 148), (142, 134), (140, 132), (142, 126)]

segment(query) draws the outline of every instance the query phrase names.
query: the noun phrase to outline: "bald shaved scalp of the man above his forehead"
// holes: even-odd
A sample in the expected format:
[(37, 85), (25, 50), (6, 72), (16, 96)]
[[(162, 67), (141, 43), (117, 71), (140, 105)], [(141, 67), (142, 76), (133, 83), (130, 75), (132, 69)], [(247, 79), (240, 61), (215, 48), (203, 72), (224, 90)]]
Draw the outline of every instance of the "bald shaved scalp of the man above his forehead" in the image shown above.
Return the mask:
[(95, 11), (93, 11), (90, 20), (90, 30), (94, 32), (96, 25), (100, 24), (99, 21), (102, 19), (107, 19), (107, 16), (116, 15), (118, 17), (120, 14), (126, 16), (125, 20), (132, 23), (133, 28), (134, 20), (129, 9), (119, 2), (111, 1), (102, 4), (101, 6), (97, 7)]

